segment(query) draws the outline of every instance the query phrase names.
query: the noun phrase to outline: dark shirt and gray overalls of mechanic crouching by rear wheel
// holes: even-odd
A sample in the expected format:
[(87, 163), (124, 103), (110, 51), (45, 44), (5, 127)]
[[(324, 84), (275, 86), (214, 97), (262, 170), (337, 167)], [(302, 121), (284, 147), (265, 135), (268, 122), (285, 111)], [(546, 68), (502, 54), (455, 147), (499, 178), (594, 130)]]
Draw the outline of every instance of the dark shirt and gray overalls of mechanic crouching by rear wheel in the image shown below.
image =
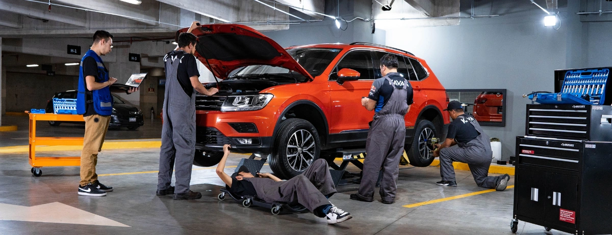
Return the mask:
[(493, 189), (504, 179), (504, 175), (488, 176), (493, 158), (491, 140), (472, 115), (461, 114), (453, 120), (449, 125), (447, 139), (455, 139), (457, 145), (440, 150), (442, 181), (455, 181), (453, 162), (468, 164), (474, 181), (480, 187)]

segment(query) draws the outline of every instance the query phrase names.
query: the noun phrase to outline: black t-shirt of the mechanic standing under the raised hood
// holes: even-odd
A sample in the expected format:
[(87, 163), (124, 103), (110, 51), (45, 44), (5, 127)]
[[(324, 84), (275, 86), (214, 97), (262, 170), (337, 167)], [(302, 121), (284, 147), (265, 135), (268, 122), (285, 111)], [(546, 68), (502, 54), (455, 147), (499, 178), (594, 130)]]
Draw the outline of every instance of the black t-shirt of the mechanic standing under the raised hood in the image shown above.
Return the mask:
[[(200, 71), (198, 71), (198, 63), (195, 61), (195, 56), (182, 50), (171, 51), (164, 57), (164, 62), (172, 59), (174, 59), (173, 63), (179, 62), (179, 67), (176, 70), (176, 77), (179, 80), (179, 84), (181, 84), (182, 89), (185, 91), (185, 94), (191, 97), (193, 94), (193, 85), (191, 84), (191, 79), (189, 78), (193, 76), (200, 76)], [(165, 69), (166, 73), (170, 71), (168, 68)]]

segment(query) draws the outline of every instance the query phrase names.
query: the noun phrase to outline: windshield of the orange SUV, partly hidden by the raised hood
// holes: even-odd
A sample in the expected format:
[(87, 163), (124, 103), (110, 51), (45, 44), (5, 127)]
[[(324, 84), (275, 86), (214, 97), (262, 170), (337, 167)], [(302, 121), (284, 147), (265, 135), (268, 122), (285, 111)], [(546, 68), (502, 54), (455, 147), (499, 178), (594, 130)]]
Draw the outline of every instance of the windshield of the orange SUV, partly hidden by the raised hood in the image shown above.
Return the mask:
[[(330, 62), (340, 52), (334, 48), (294, 48), (287, 52), (314, 78), (321, 75)], [(231, 79), (258, 78), (271, 80), (289, 80), (295, 82), (305, 82), (306, 79), (301, 74), (282, 67), (270, 65), (249, 65), (236, 70), (230, 76)]]

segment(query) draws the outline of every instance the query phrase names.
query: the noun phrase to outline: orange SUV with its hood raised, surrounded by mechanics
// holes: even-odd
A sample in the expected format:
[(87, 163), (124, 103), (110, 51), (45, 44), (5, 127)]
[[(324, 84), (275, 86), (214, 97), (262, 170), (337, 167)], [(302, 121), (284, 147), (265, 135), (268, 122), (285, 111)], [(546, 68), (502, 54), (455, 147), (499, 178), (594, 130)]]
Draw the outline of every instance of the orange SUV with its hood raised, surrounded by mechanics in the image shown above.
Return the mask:
[(360, 99), (381, 78), (384, 54), (397, 56), (398, 72), (414, 89), (406, 115), (409, 162), (433, 161), (426, 142), (449, 123), (442, 111), (449, 99), (427, 63), (411, 53), (371, 43), (283, 49), (239, 24), (203, 25), (192, 33), (195, 56), (219, 79), (206, 84), (218, 87), (217, 94), (196, 96), (195, 165), (217, 164), (228, 143), (234, 152), (267, 157), (276, 175), (291, 178), (319, 157), (365, 148), (374, 112)]

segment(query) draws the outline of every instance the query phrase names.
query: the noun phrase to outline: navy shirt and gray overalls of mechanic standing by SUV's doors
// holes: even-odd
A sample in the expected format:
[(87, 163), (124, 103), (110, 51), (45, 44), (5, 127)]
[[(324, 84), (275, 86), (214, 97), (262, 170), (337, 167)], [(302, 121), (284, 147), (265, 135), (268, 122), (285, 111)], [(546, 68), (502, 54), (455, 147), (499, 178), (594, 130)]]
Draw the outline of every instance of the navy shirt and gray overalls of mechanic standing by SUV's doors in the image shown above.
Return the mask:
[(376, 114), (365, 144), (367, 157), (356, 196), (372, 201), (378, 174), (382, 172), (381, 198), (383, 201), (393, 202), (400, 171), (400, 157), (406, 139), (404, 116), (412, 104), (412, 87), (400, 73), (388, 73), (373, 82), (368, 98), (377, 101)]

